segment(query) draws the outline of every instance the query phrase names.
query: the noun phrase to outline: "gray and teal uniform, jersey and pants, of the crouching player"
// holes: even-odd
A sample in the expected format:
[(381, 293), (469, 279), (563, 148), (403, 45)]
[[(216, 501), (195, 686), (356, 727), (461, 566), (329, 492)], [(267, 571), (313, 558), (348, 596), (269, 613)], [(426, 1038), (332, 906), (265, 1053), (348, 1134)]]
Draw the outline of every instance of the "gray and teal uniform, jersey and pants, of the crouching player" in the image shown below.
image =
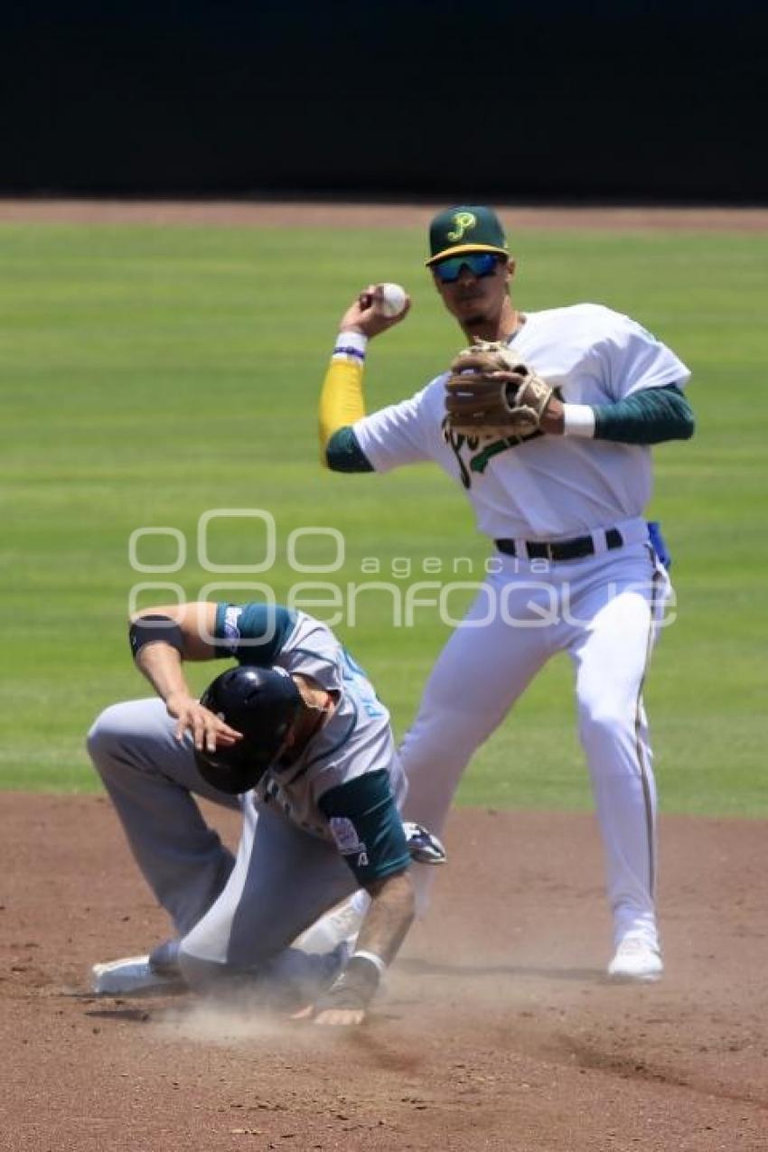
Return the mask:
[[(275, 605), (221, 604), (214, 632), (218, 657), (310, 676), (336, 708), (296, 760), (239, 797), (203, 780), (191, 737), (175, 738), (158, 697), (115, 704), (93, 725), (91, 757), (193, 984), (295, 963), (284, 949), (322, 912), (410, 863), (389, 714), (330, 629)], [(196, 795), (241, 809), (235, 857)]]

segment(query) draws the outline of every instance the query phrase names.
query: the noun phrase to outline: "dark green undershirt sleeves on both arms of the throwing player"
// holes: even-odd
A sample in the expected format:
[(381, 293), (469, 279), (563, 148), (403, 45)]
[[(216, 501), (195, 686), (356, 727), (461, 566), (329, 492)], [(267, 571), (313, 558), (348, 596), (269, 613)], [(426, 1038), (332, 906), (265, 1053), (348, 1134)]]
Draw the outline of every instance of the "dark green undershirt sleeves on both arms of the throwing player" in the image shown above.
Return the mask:
[[(618, 444), (663, 444), (690, 440), (695, 427), (693, 411), (675, 384), (644, 388), (615, 404), (593, 406), (595, 440)], [(339, 429), (326, 448), (334, 472), (372, 472), (373, 465), (360, 448), (351, 426)]]

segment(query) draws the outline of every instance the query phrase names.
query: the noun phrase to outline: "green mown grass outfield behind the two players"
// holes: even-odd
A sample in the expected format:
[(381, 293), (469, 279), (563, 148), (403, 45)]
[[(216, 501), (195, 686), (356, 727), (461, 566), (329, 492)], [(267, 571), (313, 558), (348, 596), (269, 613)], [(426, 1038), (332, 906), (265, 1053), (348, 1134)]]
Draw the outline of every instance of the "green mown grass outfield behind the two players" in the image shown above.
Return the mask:
[[(425, 581), (440, 578), (423, 571), (425, 558), (443, 562), (444, 578), (480, 578), (487, 547), (435, 468), (339, 477), (318, 465), (319, 384), (337, 317), (366, 280), (402, 281), (415, 298), (409, 321), (373, 346), (370, 409), (410, 394), (461, 346), (423, 247), (411, 229), (0, 228), (2, 786), (96, 787), (90, 721), (144, 692), (126, 643), (136, 581), (173, 582), (191, 598), (218, 579), (233, 599), (249, 596), (233, 581), (266, 582), (282, 599), (301, 578), (288, 536), (307, 524), (340, 529), (347, 556), (341, 571), (307, 581), (372, 581), (366, 558), (403, 592), (391, 569), (408, 560)], [(655, 453), (652, 510), (674, 547), (679, 600), (647, 690), (662, 805), (765, 817), (768, 236), (526, 232), (515, 248), (522, 306), (610, 304), (693, 369), (698, 434)], [(200, 568), (197, 524), (212, 508), (274, 516), (272, 570)], [(139, 526), (183, 533), (182, 570), (131, 571)], [(257, 521), (216, 522), (208, 546), (222, 564), (264, 552)], [(328, 539), (299, 541), (306, 563), (332, 553)], [(168, 538), (140, 541), (147, 564), (174, 555)], [(465, 564), (450, 577), (457, 555), (473, 575)], [(169, 598), (152, 590), (140, 602)], [(393, 628), (388, 593), (368, 591), (358, 606), (357, 624), (337, 631), (402, 733), (447, 629), (426, 609), (416, 627)], [(210, 669), (193, 673), (201, 687)], [(560, 658), (477, 756), (461, 799), (588, 806), (573, 729)]]

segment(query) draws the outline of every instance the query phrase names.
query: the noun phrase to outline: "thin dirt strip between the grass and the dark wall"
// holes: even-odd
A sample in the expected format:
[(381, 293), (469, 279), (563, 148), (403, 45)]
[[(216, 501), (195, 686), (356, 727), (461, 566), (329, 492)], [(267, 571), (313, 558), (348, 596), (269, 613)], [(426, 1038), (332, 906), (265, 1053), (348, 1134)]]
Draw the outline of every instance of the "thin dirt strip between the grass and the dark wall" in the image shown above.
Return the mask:
[[(341, 204), (296, 200), (0, 199), (0, 223), (153, 223), (211, 227), (427, 227), (442, 204)], [(765, 232), (768, 209), (534, 207), (497, 205), (510, 227)]]

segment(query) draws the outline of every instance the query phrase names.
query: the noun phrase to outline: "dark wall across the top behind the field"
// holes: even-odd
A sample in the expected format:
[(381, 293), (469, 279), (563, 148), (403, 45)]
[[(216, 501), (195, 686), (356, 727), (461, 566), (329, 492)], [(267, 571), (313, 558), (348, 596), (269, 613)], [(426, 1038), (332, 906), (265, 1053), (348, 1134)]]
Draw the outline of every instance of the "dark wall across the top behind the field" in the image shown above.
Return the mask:
[(767, 8), (28, 0), (0, 194), (765, 203)]

